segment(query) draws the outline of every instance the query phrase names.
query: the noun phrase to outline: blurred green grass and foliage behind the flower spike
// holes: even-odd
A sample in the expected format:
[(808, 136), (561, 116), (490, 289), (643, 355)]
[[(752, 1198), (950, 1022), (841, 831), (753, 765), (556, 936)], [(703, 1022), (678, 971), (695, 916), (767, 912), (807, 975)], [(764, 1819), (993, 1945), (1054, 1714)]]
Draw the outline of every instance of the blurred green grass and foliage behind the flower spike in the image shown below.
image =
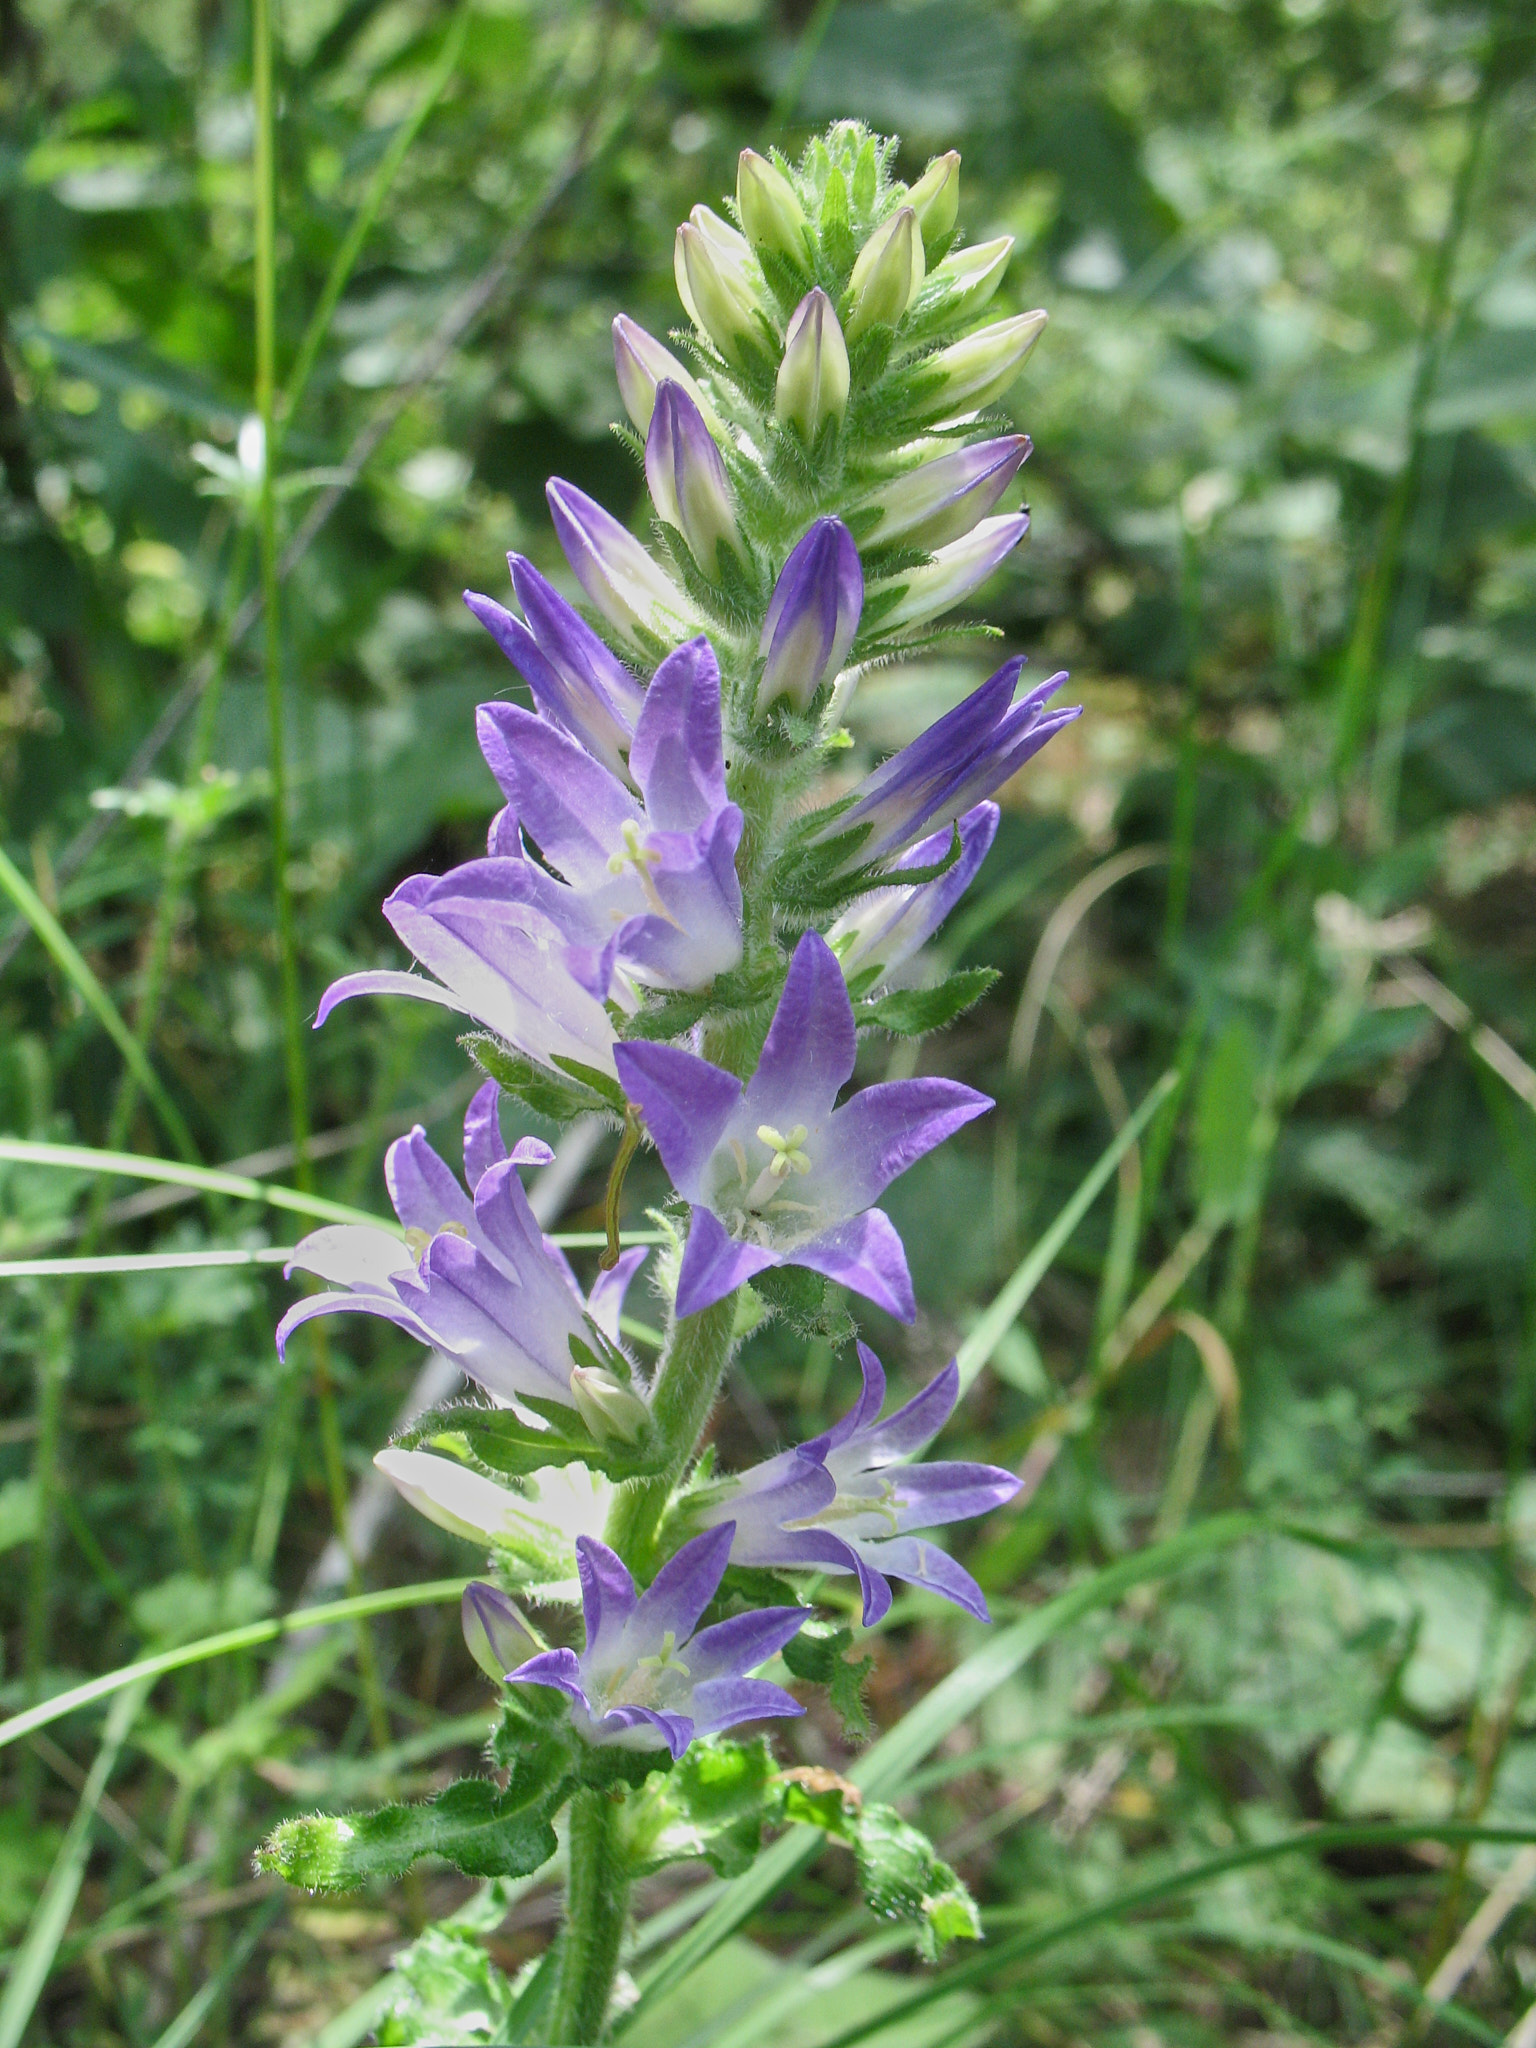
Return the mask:
[[(887, 2003), (860, 2034), (885, 2048), (1503, 2040), (1536, 1999), (1536, 1870), (1470, 1837), (1536, 1831), (1528, 8), (283, 0), (270, 641), (250, 33), (240, 0), (0, 0), (0, 1133), (311, 1171), (371, 1208), (414, 1118), (457, 1159), (453, 1020), (383, 1004), (305, 1030), (297, 1159), (264, 649), (309, 1016), (399, 965), (391, 883), (483, 844), (471, 713), (514, 678), (463, 586), (504, 596), (508, 549), (563, 575), (551, 471), (643, 518), (608, 328), (678, 319), (674, 223), (739, 147), (838, 115), (899, 131), (907, 174), (958, 147), (967, 236), (1018, 238), (999, 307), (1051, 309), (1004, 408), (1032, 535), (983, 608), (1087, 715), (1006, 793), (940, 940), (1001, 969), (993, 995), (866, 1055), (999, 1100), (897, 1186), (922, 1317), (866, 1329), (920, 1384), (1174, 1069), (946, 1436), (1030, 1477), (967, 1561), (1008, 1622), (1257, 1522), (1083, 1602), (911, 1788), (995, 1964), (903, 2011), (924, 1978), (860, 1946), (834, 1851), (629, 2040), (813, 2048)], [(858, 745), (995, 659), (958, 637), (870, 678)], [(606, 1151), (567, 1163), (590, 1227)], [(637, 1169), (633, 1221), (657, 1190)], [(297, 1235), (156, 1202), (0, 1161), (0, 1264)], [(6, 1712), (348, 1577), (317, 1567), (418, 1372), (401, 1335), (338, 1325), (285, 1372), (289, 1288), (258, 1266), (0, 1288)], [(733, 1384), (719, 1440), (750, 1458), (840, 1413), (852, 1362), (774, 1327)], [(362, 1587), (473, 1567), (426, 1524), (354, 1526)], [(901, 1599), (877, 1724), (977, 1640)], [(362, 2040), (391, 1956), (469, 1888), (317, 1905), (250, 1851), (473, 1763), (489, 1698), (453, 1610), (102, 1714), (0, 1757), (0, 2048)], [(819, 1710), (782, 1751), (848, 1755)], [(1241, 1862), (1317, 1821), (1358, 1831)], [(532, 1888), (465, 1939), (514, 1970), (551, 1913)], [(1006, 1954), (1020, 1929), (1036, 1950)], [(487, 1999), (428, 2038), (496, 2038)]]

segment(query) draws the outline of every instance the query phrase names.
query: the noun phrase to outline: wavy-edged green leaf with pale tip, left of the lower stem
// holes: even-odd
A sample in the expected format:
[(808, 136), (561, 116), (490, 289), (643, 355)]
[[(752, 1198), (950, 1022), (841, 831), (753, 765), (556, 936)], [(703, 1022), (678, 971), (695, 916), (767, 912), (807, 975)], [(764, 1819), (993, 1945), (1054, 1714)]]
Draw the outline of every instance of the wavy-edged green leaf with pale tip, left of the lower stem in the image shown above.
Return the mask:
[(567, 1749), (549, 1743), (524, 1755), (506, 1792), (489, 1778), (459, 1778), (424, 1806), (285, 1821), (256, 1851), (256, 1868), (311, 1892), (389, 1882), (424, 1855), (469, 1878), (526, 1878), (555, 1853), (549, 1817), (565, 1782)]

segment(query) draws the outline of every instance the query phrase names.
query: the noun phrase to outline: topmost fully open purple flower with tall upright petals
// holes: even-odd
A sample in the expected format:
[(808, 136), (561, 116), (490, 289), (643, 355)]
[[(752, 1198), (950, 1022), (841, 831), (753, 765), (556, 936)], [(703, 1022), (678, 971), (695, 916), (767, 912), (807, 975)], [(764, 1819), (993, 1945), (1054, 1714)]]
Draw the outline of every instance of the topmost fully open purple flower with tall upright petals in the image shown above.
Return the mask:
[(520, 705), (481, 705), (477, 725), (508, 803), (492, 858), (469, 868), (563, 934), (563, 965), (590, 997), (604, 1001), (618, 971), (696, 989), (737, 965), (741, 811), (725, 797), (721, 672), (702, 635), (645, 692), (629, 750), (639, 801)]

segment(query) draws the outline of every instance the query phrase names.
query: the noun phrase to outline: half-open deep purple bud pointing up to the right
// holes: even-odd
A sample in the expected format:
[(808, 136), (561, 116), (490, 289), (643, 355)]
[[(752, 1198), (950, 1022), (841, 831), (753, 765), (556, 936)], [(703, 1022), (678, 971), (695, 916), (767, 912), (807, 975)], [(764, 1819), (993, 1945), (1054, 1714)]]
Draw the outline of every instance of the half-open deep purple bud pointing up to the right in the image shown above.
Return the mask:
[(1032, 754), (1081, 717), (1081, 705), (1047, 711), (1067, 672), (1049, 676), (1014, 702), (1024, 657), (1004, 662), (979, 690), (946, 711), (926, 733), (883, 762), (854, 791), (852, 803), (817, 831), (819, 840), (866, 827), (848, 864), (887, 860), (922, 831), (952, 823), (1016, 774)]

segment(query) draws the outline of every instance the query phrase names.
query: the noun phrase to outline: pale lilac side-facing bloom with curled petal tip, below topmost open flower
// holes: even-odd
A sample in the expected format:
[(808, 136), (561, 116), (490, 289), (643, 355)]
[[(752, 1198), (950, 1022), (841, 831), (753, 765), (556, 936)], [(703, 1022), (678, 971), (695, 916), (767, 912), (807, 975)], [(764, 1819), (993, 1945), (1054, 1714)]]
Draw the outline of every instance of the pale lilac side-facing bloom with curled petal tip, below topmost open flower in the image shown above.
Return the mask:
[[(559, 737), (549, 725), (543, 731)], [(580, 752), (573, 741), (567, 745)], [(614, 1024), (602, 999), (571, 975), (569, 936), (539, 909), (530, 891), (508, 889), (496, 862), (469, 860), (446, 874), (412, 874), (385, 897), (383, 913), (438, 979), (395, 967), (342, 975), (319, 999), (315, 1030), (350, 995), (412, 995), (475, 1018), (543, 1067), (569, 1059), (614, 1073)]]

